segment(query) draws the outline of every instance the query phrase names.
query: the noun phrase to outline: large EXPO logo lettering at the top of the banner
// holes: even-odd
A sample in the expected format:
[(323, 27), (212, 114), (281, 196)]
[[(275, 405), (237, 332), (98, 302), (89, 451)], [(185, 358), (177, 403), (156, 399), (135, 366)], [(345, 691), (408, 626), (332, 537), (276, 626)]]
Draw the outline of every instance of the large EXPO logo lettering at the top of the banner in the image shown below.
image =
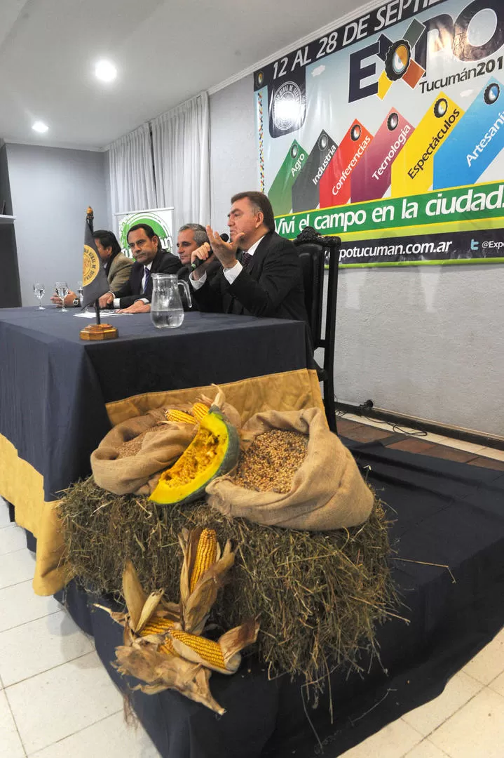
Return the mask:
[[(484, 44), (472, 45), (471, 22), (481, 11), (489, 10), (493, 11), (496, 16), (495, 28), (493, 31), (489, 31), (489, 38)], [(350, 54), (348, 102), (355, 102), (372, 95), (382, 96), (376, 70), (377, 65), (372, 59), (378, 58), (384, 61), (387, 53), (390, 52), (395, 52), (396, 55), (393, 58), (397, 58), (402, 64), (401, 70), (398, 69), (397, 74), (392, 74), (392, 78), (404, 77), (405, 80), (408, 77), (409, 67), (413, 65), (418, 71), (425, 70), (428, 74), (428, 53), (434, 55), (440, 52), (446, 55), (446, 52), (451, 51), (453, 57), (462, 62), (480, 61), (481, 58), (492, 55), (504, 45), (504, 2), (502, 0), (473, 0), (460, 12), (456, 19), (450, 17), (446, 12), (440, 11), (439, 15), (423, 20), (422, 25), (425, 30), (422, 30), (418, 39), (411, 40), (414, 45), (409, 45), (407, 40), (392, 43), (382, 34), (372, 45), (367, 45)], [(429, 34), (431, 32), (433, 34)], [(413, 48), (411, 62), (410, 47)], [(402, 48), (404, 48), (405, 55), (408, 53), (406, 57), (399, 55)], [(370, 77), (376, 77), (375, 81), (370, 82)], [(383, 78), (382, 76), (381, 80)]]

